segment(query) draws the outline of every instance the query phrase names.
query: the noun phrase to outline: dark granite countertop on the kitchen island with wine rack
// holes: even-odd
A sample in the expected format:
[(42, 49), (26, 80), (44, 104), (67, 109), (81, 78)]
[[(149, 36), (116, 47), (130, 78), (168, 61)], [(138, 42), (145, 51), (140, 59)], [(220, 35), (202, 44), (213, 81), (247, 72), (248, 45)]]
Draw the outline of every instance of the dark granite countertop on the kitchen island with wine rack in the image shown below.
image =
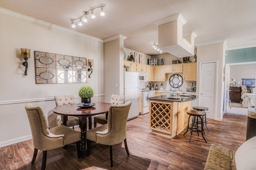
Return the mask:
[(167, 96), (167, 95), (161, 95), (161, 96), (155, 96), (155, 97), (150, 97), (148, 98), (149, 100), (161, 100), (161, 101), (174, 101), (174, 102), (187, 102), (191, 100), (195, 100), (198, 98), (196, 95), (186, 95), (186, 96), (177, 96), (177, 99), (175, 98), (170, 98), (172, 96)]

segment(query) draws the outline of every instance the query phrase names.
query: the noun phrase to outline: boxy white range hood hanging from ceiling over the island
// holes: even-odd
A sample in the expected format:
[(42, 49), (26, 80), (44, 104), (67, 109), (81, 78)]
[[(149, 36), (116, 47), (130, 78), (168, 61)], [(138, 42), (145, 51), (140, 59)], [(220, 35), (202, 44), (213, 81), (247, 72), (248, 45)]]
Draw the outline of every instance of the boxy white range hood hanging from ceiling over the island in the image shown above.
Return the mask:
[(181, 14), (175, 14), (154, 22), (158, 25), (158, 46), (167, 53), (177, 57), (194, 56), (194, 39), (196, 33), (186, 33), (183, 37), (182, 27), (187, 21)]

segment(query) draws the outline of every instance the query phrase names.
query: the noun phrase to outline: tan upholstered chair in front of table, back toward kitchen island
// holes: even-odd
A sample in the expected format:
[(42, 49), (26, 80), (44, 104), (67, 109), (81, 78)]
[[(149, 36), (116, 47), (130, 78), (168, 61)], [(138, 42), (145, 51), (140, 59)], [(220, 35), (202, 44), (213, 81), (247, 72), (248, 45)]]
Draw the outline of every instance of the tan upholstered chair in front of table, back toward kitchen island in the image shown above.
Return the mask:
[(110, 146), (110, 165), (113, 167), (112, 146), (124, 141), (125, 150), (129, 154), (126, 142), (126, 122), (132, 102), (122, 105), (110, 105), (108, 123), (87, 131), (87, 155), (90, 155), (91, 141)]

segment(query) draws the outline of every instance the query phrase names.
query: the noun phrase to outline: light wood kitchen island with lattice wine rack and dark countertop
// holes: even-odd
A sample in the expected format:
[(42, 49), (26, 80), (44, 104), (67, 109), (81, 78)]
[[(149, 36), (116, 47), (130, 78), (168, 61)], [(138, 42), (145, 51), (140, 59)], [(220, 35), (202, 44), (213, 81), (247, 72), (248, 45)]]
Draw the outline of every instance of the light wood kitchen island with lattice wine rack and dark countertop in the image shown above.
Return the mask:
[(173, 138), (186, 128), (190, 101), (197, 99), (197, 96), (180, 95), (173, 97), (161, 95), (148, 99), (149, 128), (153, 133), (166, 138)]

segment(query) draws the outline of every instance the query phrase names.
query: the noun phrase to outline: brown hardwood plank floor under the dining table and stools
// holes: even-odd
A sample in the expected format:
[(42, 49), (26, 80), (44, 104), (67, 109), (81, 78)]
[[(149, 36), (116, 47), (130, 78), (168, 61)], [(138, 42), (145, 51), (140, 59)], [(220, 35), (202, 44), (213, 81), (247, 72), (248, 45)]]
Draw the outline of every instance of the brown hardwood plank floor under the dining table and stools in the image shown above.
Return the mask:
[[(46, 169), (204, 169), (210, 144), (237, 149), (245, 141), (247, 116), (225, 114), (222, 121), (207, 120), (210, 131), (202, 136), (193, 133), (191, 142), (185, 130), (173, 139), (151, 133), (148, 114), (127, 122), (127, 143), (113, 146), (114, 167), (110, 167), (109, 147), (92, 143), (91, 155), (78, 159), (76, 145), (47, 152)], [(49, 143), (50, 145), (50, 143)], [(42, 151), (34, 165), (33, 141), (27, 140), (0, 148), (0, 169), (41, 169)]]

